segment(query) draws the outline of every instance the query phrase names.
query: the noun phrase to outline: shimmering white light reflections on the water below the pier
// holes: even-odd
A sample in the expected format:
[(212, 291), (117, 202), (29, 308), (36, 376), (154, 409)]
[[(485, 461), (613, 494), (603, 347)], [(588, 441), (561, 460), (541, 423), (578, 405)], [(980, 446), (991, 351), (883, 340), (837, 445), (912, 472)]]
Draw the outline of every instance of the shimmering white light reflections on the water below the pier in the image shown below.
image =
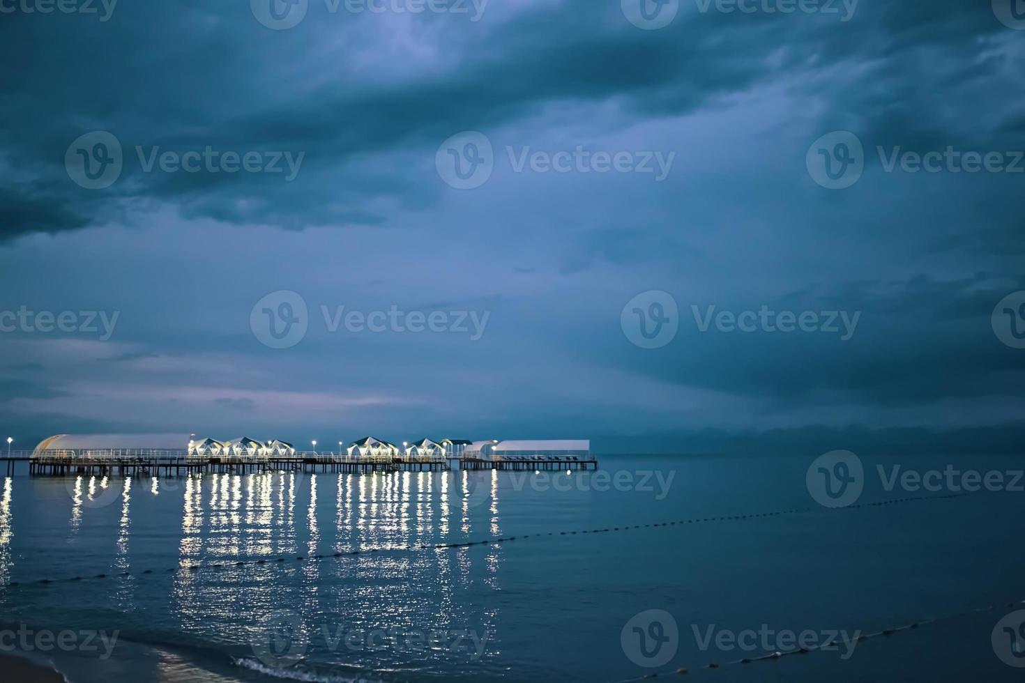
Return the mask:
[[(461, 472), (210, 473), (180, 479), (153, 477), (150, 486), (140, 489), (130, 479), (92, 477), (86, 483), (79, 477), (77, 494), (71, 496), (70, 526), (88, 528), (90, 522), (107, 518), (105, 507), (82, 505), (84, 488), (119, 486), (121, 496), (114, 500), (120, 514), (110, 566), (132, 578), (112, 583), (109, 599), (124, 610), (162, 609), (166, 616), (154, 625), (166, 622), (170, 630), (204, 644), (246, 646), (260, 620), (276, 609), (295, 612), (312, 624), (346, 629), (494, 631), (497, 610), (467, 605), (466, 591), (478, 581), (495, 586), (500, 549), (434, 550), (453, 529), (501, 533), (497, 480), (486, 476), (490, 497), (481, 500), (469, 499)], [(175, 511), (168, 502), (177, 503)], [(114, 507), (109, 505), (108, 509)], [(301, 515), (296, 515), (297, 508)], [(159, 567), (159, 558), (167, 556), (167, 548), (157, 547), (147, 531), (165, 524), (172, 514), (177, 517), (177, 532), (171, 538), (178, 570), (167, 574), (170, 585), (163, 600), (157, 599), (159, 592), (144, 597), (135, 574), (154, 564)], [(136, 520), (138, 515), (145, 521)], [(427, 550), (399, 550), (420, 545)], [(333, 557), (353, 551), (377, 552)], [(316, 559), (318, 555), (326, 559)], [(286, 561), (279, 562), (282, 557)], [(251, 562), (258, 558), (266, 562)], [(239, 560), (247, 563), (237, 567)], [(215, 563), (221, 566), (212, 568)], [(207, 566), (192, 570), (197, 564)], [(318, 652), (317, 645), (311, 645), (312, 658), (337, 658), (337, 652)], [(379, 666), (381, 656), (389, 666), (408, 658), (342, 654), (350, 663), (365, 659), (367, 666)], [(450, 653), (428, 650), (419, 656), (444, 659)]]

